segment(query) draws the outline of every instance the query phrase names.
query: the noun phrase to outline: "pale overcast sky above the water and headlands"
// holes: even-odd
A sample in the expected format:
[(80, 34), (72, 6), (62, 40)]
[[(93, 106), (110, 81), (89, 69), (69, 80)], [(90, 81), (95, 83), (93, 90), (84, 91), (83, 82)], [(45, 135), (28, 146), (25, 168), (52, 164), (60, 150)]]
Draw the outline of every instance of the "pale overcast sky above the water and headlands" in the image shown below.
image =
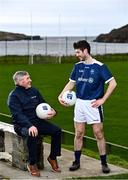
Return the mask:
[(128, 24), (128, 0), (0, 0), (0, 31), (97, 36)]

